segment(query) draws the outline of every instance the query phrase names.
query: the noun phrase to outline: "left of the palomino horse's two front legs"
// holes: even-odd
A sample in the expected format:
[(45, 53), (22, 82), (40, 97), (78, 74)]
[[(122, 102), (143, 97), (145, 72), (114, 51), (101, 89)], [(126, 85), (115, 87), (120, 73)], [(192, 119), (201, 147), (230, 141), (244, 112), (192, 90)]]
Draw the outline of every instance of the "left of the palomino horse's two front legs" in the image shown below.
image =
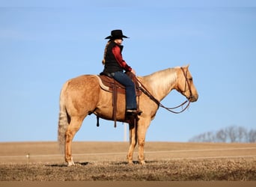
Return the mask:
[(129, 164), (133, 164), (132, 156), (133, 156), (133, 151), (136, 144), (137, 144), (136, 125), (134, 123), (129, 123), (129, 151), (127, 154), (127, 159)]

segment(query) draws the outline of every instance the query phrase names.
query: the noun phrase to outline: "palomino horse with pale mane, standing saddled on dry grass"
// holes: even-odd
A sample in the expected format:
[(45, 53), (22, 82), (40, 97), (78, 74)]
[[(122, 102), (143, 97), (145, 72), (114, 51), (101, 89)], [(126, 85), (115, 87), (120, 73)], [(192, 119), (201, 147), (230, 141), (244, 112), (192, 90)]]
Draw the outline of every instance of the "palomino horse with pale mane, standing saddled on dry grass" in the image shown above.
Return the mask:
[[(153, 96), (153, 99), (142, 93), (139, 96), (139, 108), (142, 114), (136, 122), (129, 123), (129, 151), (127, 159), (132, 164), (132, 155), (138, 142), (138, 162), (144, 162), (145, 135), (150, 121), (156, 115), (159, 103), (173, 89), (195, 102), (198, 92), (192, 82), (189, 66), (174, 67), (152, 73), (149, 76), (137, 77), (138, 81)], [(138, 98), (138, 97), (137, 97)], [(126, 121), (125, 96), (118, 94), (116, 119)], [(88, 114), (96, 114), (106, 120), (113, 120), (112, 93), (100, 88), (96, 75), (84, 75), (67, 81), (60, 95), (60, 112), (58, 120), (58, 142), (64, 150), (67, 164), (74, 165), (71, 153), (71, 142)], [(135, 123), (135, 124), (134, 124)]]

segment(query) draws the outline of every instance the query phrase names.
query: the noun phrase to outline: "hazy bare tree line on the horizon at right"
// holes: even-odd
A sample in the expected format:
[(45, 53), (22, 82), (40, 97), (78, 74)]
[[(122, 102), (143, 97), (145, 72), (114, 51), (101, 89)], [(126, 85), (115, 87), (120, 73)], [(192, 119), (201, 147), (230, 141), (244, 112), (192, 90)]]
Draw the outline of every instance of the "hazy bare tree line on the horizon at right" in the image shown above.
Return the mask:
[(216, 132), (204, 132), (189, 139), (189, 142), (255, 143), (256, 129), (243, 126), (228, 126)]

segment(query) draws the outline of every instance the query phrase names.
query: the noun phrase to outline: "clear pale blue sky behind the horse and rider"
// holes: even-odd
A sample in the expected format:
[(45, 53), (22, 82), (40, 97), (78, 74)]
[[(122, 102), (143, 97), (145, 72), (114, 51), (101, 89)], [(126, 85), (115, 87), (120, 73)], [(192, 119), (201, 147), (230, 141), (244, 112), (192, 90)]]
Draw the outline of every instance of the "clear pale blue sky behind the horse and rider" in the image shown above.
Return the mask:
[[(62, 85), (103, 70), (104, 38), (117, 28), (130, 37), (123, 56), (138, 76), (190, 64), (198, 89), (182, 114), (159, 108), (147, 141), (256, 128), (253, 1), (73, 2), (0, 1), (0, 141), (56, 141)], [(184, 99), (173, 91), (162, 103)], [(123, 141), (124, 125), (113, 126), (100, 120), (97, 128), (91, 115), (75, 141)]]

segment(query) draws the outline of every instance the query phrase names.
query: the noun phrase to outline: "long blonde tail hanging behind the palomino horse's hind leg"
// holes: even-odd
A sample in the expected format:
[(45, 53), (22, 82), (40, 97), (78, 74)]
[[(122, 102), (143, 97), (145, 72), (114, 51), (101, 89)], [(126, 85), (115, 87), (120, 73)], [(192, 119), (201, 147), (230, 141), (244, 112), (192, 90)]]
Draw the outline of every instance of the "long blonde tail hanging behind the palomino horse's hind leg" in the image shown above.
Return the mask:
[(64, 102), (64, 91), (66, 91), (67, 83), (64, 84), (61, 89), (60, 94), (60, 111), (58, 115), (58, 145), (61, 150), (61, 153), (64, 153), (64, 145), (65, 145), (65, 133), (67, 130), (67, 126), (69, 125), (67, 119), (67, 111)]

